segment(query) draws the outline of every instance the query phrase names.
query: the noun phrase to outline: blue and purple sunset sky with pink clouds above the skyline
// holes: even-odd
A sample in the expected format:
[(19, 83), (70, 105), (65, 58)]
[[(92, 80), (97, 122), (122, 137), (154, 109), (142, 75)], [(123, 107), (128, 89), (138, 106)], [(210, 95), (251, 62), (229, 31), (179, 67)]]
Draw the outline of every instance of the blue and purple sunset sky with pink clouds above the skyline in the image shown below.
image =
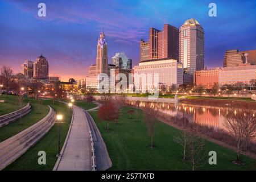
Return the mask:
[[(46, 17), (38, 4), (46, 4)], [(209, 3), (217, 5), (210, 17)], [(125, 52), (139, 63), (139, 40), (148, 40), (150, 27), (162, 30), (168, 23), (180, 28), (195, 18), (204, 28), (205, 66), (222, 67), (225, 51), (256, 49), (256, 1), (203, 0), (0, 0), (0, 67), (21, 71), (24, 60), (41, 54), (49, 62), (49, 76), (81, 79), (96, 63), (97, 39), (104, 28), (109, 63)]]

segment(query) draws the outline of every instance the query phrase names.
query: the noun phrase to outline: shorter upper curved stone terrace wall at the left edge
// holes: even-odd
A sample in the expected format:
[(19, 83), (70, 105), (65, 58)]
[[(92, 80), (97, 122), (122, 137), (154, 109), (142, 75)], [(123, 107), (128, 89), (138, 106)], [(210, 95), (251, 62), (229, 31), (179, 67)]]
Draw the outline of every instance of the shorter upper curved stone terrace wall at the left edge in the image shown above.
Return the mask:
[(8, 125), (11, 122), (16, 121), (19, 118), (22, 118), (24, 115), (28, 114), (31, 111), (31, 105), (28, 103), (22, 109), (13, 111), (11, 113), (0, 116), (0, 127)]

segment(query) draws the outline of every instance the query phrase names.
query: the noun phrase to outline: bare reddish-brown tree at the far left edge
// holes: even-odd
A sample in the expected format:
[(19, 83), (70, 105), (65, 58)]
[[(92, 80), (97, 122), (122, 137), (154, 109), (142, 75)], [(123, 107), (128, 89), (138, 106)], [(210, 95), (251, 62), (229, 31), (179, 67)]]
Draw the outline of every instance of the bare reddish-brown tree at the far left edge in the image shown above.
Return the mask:
[(6, 88), (6, 94), (5, 98), (7, 97), (7, 94), (9, 93), (10, 90), (10, 85), (11, 85), (11, 78), (13, 77), (13, 69), (11, 67), (6, 67), (3, 66), (1, 68), (1, 76), (2, 76), (2, 81), (3, 81), (3, 86)]

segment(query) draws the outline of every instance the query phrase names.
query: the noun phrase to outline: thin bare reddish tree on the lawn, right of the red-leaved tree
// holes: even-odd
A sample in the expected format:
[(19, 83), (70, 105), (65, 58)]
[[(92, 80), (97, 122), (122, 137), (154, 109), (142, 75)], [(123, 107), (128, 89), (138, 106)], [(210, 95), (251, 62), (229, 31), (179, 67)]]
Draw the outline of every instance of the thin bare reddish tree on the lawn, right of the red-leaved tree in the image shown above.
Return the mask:
[(143, 113), (144, 113), (143, 119), (144, 119), (144, 122), (146, 123), (148, 134), (150, 135), (150, 138), (151, 138), (150, 148), (154, 148), (153, 137), (155, 134), (155, 122), (156, 122), (157, 111), (147, 106), (146, 108), (144, 108)]

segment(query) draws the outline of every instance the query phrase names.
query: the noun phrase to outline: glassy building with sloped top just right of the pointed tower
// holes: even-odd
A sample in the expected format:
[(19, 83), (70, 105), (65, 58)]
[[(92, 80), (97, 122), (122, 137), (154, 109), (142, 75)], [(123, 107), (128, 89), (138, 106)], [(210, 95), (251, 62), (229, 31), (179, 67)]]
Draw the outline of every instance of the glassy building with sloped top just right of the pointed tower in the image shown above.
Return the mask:
[(112, 57), (112, 64), (115, 65), (115, 67), (121, 68), (121, 69), (131, 69), (132, 61), (131, 59), (128, 59), (128, 57), (125, 55), (125, 53), (115, 53), (115, 55)]

